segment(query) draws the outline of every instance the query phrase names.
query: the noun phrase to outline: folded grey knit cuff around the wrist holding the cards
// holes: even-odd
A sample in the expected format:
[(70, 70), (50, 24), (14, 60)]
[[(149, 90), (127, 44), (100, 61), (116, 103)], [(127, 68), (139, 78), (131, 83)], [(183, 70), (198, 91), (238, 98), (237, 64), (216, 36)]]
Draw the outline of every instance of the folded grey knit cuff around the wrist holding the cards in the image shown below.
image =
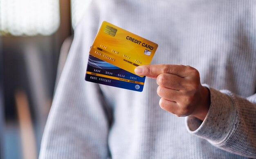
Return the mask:
[(186, 117), (186, 128), (189, 133), (209, 140), (214, 144), (225, 141), (233, 127), (235, 117), (234, 104), (229, 91), (217, 91), (203, 85), (210, 90), (211, 105), (204, 121), (193, 116)]

